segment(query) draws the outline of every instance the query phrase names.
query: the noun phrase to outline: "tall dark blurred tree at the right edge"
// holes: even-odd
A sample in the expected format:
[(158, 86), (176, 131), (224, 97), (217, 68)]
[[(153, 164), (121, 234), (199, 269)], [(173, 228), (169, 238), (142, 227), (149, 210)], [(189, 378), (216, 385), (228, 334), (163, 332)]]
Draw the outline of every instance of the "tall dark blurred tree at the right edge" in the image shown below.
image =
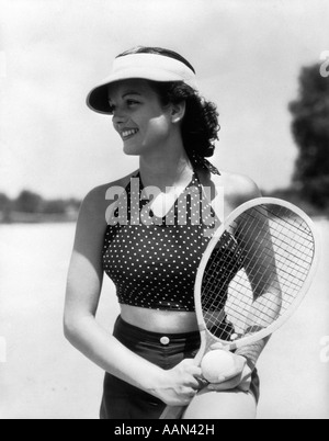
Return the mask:
[(320, 64), (302, 69), (288, 109), (298, 149), (293, 184), (303, 200), (329, 213), (329, 77), (321, 71)]

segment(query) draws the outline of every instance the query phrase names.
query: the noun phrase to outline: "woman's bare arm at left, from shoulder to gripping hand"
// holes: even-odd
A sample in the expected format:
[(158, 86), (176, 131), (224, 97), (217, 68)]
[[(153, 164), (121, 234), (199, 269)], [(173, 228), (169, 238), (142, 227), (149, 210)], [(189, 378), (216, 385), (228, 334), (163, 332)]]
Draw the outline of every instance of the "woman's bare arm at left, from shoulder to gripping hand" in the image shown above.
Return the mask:
[(80, 210), (67, 278), (65, 336), (104, 371), (168, 404), (186, 404), (198, 386), (195, 375), (200, 371), (192, 362), (164, 371), (125, 348), (95, 320), (103, 281), (106, 205), (105, 189), (98, 188), (87, 195)]

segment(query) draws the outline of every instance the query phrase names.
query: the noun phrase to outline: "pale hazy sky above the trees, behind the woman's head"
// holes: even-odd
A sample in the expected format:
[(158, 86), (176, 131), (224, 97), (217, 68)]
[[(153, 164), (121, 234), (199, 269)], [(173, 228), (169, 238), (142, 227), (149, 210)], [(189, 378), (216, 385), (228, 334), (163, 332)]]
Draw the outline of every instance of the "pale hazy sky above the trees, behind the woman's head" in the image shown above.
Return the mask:
[[(288, 102), (329, 50), (327, 0), (0, 0), (0, 192), (83, 197), (138, 168), (86, 95), (137, 45), (179, 52), (217, 104), (212, 161), (260, 188), (290, 184)], [(329, 81), (329, 79), (328, 79)]]

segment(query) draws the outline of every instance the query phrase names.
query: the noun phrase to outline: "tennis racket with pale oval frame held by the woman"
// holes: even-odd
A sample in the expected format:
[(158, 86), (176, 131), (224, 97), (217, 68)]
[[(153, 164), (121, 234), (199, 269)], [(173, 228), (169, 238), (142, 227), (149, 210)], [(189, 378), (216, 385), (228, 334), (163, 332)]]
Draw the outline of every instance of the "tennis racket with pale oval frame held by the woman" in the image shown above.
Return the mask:
[[(302, 210), (273, 197), (235, 210), (208, 242), (196, 273), (196, 363), (215, 342), (232, 351), (282, 326), (303, 301), (317, 260), (315, 227)], [(167, 406), (160, 419), (180, 418), (184, 409)]]

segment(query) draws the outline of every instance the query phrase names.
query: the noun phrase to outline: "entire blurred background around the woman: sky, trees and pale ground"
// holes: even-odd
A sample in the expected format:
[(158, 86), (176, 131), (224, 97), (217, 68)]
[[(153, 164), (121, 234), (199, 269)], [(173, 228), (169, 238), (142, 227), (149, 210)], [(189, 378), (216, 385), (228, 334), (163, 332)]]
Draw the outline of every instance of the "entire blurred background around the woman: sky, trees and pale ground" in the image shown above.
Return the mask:
[[(0, 0), (0, 418), (98, 417), (102, 372), (64, 340), (80, 202), (138, 167), (89, 90), (136, 45), (179, 52), (219, 111), (213, 162), (315, 219), (316, 281), (260, 363), (260, 419), (327, 418), (329, 3)], [(118, 308), (105, 280), (98, 319)]]

